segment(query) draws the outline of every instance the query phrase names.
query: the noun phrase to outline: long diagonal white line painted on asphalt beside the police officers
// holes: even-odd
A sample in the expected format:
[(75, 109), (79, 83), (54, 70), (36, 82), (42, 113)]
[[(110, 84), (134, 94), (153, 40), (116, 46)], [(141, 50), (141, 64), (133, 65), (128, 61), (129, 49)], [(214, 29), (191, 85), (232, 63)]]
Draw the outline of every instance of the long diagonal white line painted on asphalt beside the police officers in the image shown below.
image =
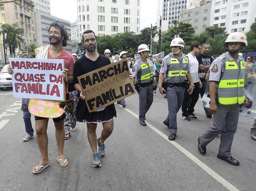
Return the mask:
[[(117, 104), (116, 104), (117, 105)], [(122, 107), (122, 105), (118, 105), (120, 107)], [(134, 112), (132, 112), (131, 110), (127, 109), (127, 108), (123, 108), (125, 109), (127, 112), (129, 112), (130, 114), (132, 114), (133, 116), (135, 116), (137, 119), (139, 118), (139, 116), (137, 114), (135, 114)], [(204, 171), (206, 171), (211, 177), (213, 177), (214, 179), (216, 179), (218, 182), (220, 182), (220, 184), (222, 184), (223, 186), (225, 186), (228, 190), (230, 191), (239, 191), (236, 187), (234, 187), (232, 184), (230, 184), (229, 182), (227, 182), (227, 180), (225, 180), (223, 177), (221, 177), (220, 175), (218, 175), (215, 171), (213, 171), (211, 168), (209, 168), (206, 164), (204, 164), (202, 161), (200, 161), (198, 158), (196, 158), (193, 154), (191, 154), (189, 151), (187, 151), (186, 149), (184, 149), (180, 144), (178, 144), (175, 141), (170, 141), (168, 139), (168, 136), (165, 135), (164, 133), (162, 133), (160, 130), (158, 130), (157, 128), (155, 128), (154, 126), (152, 126), (150, 123), (147, 123), (147, 126), (149, 128), (151, 128), (153, 131), (155, 131), (158, 135), (160, 135), (161, 137), (163, 137), (165, 140), (167, 140), (168, 142), (170, 142), (170, 144), (172, 144), (174, 147), (176, 147), (177, 149), (179, 149), (179, 151), (181, 151), (183, 154), (185, 154), (187, 157), (189, 157), (192, 161), (194, 161), (194, 163), (196, 163), (197, 165), (199, 165), (199, 167), (201, 167)]]

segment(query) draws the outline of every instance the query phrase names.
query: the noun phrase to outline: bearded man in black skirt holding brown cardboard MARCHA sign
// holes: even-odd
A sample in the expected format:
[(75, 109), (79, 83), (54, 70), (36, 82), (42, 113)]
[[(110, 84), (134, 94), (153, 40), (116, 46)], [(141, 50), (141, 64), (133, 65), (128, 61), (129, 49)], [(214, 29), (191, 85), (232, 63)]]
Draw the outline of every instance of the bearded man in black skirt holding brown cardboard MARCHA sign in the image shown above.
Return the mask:
[[(105, 140), (114, 128), (114, 102), (135, 91), (130, 83), (126, 60), (111, 64), (107, 57), (98, 54), (96, 36), (92, 30), (84, 31), (82, 39), (87, 53), (74, 66), (74, 87), (81, 92), (77, 104), (77, 121), (86, 122), (87, 136), (93, 151), (92, 165), (100, 167), (100, 156), (105, 155)], [(128, 83), (123, 83), (122, 79)], [(103, 125), (100, 137), (96, 135), (97, 123)]]

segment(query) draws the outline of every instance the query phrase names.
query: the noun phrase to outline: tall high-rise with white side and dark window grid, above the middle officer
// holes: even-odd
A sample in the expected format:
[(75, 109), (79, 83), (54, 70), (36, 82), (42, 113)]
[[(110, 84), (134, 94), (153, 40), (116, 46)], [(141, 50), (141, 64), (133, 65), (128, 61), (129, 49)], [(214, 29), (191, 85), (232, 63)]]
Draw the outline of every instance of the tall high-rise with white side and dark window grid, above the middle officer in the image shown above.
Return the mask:
[(157, 2), (157, 26), (159, 26), (160, 16), (162, 18), (162, 31), (172, 28), (172, 20), (179, 21), (179, 12), (187, 8), (187, 0), (158, 0)]

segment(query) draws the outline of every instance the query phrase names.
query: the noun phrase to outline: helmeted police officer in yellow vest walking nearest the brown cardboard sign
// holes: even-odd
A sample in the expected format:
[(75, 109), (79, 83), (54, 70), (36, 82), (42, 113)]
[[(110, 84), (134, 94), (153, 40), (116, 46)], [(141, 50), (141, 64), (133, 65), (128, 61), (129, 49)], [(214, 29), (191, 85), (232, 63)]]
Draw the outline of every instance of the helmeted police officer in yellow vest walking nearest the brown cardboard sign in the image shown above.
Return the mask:
[(153, 63), (147, 59), (148, 51), (146, 44), (139, 45), (138, 53), (141, 58), (132, 67), (133, 83), (136, 77), (136, 86), (139, 89), (139, 122), (142, 126), (146, 126), (145, 115), (153, 102), (153, 88), (156, 87), (153, 78)]

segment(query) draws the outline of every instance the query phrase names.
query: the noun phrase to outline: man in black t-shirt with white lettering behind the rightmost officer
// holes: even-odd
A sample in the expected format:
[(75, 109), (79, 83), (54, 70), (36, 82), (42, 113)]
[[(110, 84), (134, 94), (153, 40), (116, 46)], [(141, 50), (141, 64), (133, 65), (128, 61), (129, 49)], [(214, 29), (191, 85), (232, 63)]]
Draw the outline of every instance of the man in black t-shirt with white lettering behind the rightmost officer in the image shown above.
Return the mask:
[[(199, 63), (199, 72), (198, 75), (201, 79), (201, 82), (203, 84), (202, 88), (200, 89), (200, 95), (201, 98), (203, 98), (203, 94), (206, 90), (206, 74), (210, 68), (211, 63), (213, 62), (213, 58), (211, 56), (208, 55), (210, 51), (210, 43), (209, 42), (204, 42), (202, 44), (202, 51), (200, 54), (196, 55), (196, 59), (198, 60)], [(209, 111), (208, 108), (204, 108), (205, 112), (206, 112), (206, 116), (211, 118), (211, 112)]]

